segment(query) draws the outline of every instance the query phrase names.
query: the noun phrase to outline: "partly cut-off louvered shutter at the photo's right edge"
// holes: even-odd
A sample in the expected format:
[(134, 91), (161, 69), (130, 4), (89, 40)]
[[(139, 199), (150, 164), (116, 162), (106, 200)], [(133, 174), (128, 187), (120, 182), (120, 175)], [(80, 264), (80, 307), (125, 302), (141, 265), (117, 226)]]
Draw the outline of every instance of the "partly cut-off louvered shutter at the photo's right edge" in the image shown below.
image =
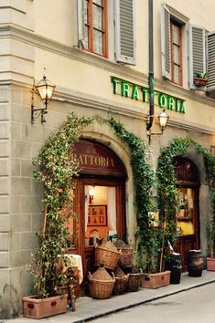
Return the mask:
[[(209, 95), (215, 99), (215, 32), (211, 32), (207, 36), (207, 71), (209, 72), (209, 83), (207, 91)], [(213, 92), (213, 93), (212, 93)]]

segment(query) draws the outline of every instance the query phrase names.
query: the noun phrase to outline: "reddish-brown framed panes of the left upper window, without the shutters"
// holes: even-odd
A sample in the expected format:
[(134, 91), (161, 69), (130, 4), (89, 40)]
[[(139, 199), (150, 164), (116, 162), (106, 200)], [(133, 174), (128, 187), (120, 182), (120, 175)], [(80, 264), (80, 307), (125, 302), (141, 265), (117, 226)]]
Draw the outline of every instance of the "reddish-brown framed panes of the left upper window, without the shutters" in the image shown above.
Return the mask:
[(84, 0), (84, 47), (107, 57), (106, 0)]

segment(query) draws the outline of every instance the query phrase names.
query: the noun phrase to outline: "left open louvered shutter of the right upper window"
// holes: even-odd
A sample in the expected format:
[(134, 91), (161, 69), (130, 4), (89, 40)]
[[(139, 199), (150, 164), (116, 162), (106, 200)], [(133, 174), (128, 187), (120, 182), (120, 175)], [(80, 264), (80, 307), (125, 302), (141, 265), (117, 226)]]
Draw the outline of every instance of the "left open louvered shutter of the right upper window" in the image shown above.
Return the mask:
[(162, 76), (171, 79), (170, 13), (165, 5), (161, 7), (161, 55)]

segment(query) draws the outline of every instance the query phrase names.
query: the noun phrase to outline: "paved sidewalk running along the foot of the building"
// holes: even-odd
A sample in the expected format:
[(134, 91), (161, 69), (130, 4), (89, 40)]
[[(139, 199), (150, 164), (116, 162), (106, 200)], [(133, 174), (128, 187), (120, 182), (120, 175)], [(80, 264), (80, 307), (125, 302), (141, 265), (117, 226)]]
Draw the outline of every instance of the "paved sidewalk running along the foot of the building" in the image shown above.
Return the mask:
[(191, 288), (201, 287), (206, 284), (215, 282), (215, 272), (204, 270), (201, 277), (190, 277), (188, 273), (183, 273), (181, 282), (178, 285), (169, 285), (156, 289), (140, 288), (137, 292), (125, 293), (114, 296), (109, 299), (92, 299), (91, 297), (81, 297), (76, 300), (76, 310), (57, 315), (50, 318), (32, 319), (32, 318), (15, 318), (7, 319), (0, 322), (4, 323), (81, 323), (87, 322), (93, 318), (99, 318), (103, 315), (116, 312), (120, 309), (134, 307), (144, 304), (158, 298), (167, 297), (177, 294)]

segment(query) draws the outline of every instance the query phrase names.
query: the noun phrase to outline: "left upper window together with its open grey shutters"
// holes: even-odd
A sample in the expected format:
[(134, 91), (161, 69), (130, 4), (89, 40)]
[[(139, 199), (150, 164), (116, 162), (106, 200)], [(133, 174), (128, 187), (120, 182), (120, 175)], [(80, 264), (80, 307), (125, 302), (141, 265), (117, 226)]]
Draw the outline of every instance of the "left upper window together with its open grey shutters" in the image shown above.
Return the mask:
[(109, 24), (114, 21), (114, 36), (110, 26), (109, 38), (114, 38), (115, 60), (135, 65), (134, 3), (134, 0), (113, 0), (112, 6), (110, 0), (77, 0), (79, 46), (108, 57), (107, 21)]

